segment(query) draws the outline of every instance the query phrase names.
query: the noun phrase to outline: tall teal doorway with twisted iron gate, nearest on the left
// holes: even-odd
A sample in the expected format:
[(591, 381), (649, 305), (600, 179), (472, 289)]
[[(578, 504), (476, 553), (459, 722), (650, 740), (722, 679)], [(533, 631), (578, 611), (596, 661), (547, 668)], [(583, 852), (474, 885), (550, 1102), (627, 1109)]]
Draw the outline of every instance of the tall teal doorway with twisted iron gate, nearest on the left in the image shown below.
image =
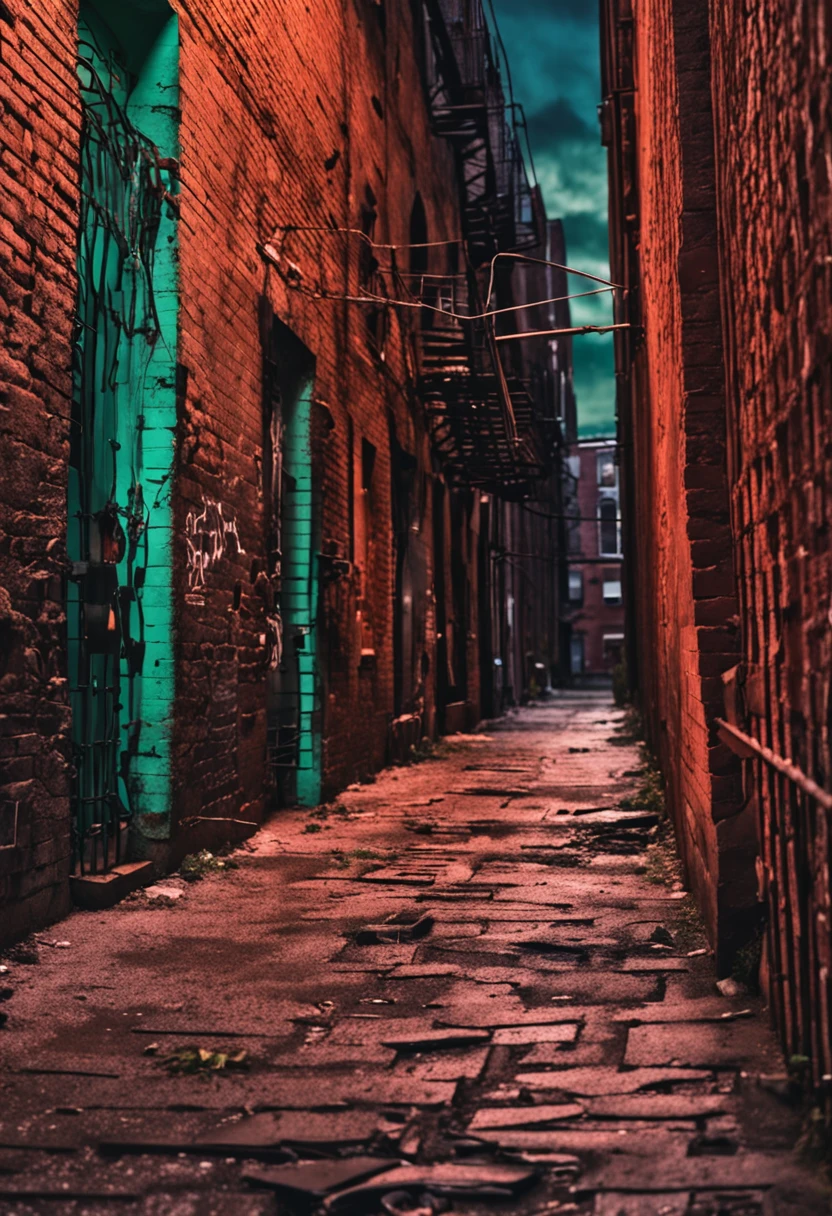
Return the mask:
[[(100, 11), (106, 12), (105, 22)], [(81, 5), (78, 313), (67, 503), (75, 866), (164, 837), (173, 705), (179, 33)], [(111, 21), (112, 19), (112, 21)], [(133, 24), (131, 24), (133, 22)]]

